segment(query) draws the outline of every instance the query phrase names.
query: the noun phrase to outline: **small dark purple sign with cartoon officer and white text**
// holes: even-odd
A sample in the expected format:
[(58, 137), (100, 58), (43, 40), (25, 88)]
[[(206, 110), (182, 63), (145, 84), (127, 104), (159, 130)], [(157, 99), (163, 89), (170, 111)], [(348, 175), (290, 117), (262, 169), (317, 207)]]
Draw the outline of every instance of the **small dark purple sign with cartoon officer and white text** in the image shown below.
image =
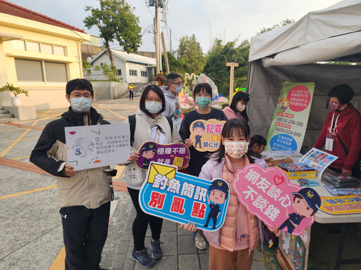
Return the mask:
[(189, 160), (189, 149), (183, 143), (161, 144), (154, 141), (146, 141), (139, 148), (137, 167), (148, 169), (149, 163), (154, 161), (183, 169), (188, 165)]

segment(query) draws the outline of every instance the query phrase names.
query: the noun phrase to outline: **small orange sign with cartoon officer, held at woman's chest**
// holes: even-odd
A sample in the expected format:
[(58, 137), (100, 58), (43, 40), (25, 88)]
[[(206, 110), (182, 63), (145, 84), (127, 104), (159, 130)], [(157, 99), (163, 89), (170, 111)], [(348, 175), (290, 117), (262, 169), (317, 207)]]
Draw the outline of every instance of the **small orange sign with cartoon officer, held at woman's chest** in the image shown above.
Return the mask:
[(216, 119), (193, 121), (190, 124), (190, 139), (194, 148), (200, 152), (218, 150), (224, 123), (226, 121)]

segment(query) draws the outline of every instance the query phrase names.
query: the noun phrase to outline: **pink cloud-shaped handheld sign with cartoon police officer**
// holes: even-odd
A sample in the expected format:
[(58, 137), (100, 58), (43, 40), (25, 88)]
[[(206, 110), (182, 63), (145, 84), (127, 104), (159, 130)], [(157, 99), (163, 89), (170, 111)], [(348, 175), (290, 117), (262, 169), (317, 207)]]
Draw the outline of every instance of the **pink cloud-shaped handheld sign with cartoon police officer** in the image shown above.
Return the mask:
[(321, 198), (312, 188), (291, 184), (279, 168), (247, 165), (233, 181), (238, 200), (265, 224), (300, 236), (314, 222)]

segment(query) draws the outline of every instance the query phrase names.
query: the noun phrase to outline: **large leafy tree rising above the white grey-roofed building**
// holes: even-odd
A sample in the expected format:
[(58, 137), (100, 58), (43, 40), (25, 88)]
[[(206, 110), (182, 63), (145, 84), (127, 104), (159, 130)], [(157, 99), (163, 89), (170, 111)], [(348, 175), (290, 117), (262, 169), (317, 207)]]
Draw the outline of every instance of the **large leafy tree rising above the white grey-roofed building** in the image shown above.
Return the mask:
[(134, 8), (125, 0), (99, 0), (99, 3), (100, 8), (85, 6), (85, 11), (90, 11), (91, 15), (83, 23), (88, 29), (93, 26), (99, 29), (111, 65), (114, 65), (109, 43), (116, 40), (127, 53), (137, 52), (142, 44), (142, 28), (139, 26), (139, 18), (133, 14)]

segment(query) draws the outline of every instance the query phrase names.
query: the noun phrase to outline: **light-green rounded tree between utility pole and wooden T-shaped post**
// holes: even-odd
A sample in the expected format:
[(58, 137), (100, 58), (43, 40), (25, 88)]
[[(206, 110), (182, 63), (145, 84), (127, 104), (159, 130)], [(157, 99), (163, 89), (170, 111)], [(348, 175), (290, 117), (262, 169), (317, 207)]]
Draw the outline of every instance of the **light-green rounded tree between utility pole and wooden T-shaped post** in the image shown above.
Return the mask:
[(178, 47), (178, 60), (187, 65), (188, 73), (200, 75), (206, 63), (206, 57), (203, 55), (200, 43), (195, 39), (195, 35), (191, 37), (181, 37)]

